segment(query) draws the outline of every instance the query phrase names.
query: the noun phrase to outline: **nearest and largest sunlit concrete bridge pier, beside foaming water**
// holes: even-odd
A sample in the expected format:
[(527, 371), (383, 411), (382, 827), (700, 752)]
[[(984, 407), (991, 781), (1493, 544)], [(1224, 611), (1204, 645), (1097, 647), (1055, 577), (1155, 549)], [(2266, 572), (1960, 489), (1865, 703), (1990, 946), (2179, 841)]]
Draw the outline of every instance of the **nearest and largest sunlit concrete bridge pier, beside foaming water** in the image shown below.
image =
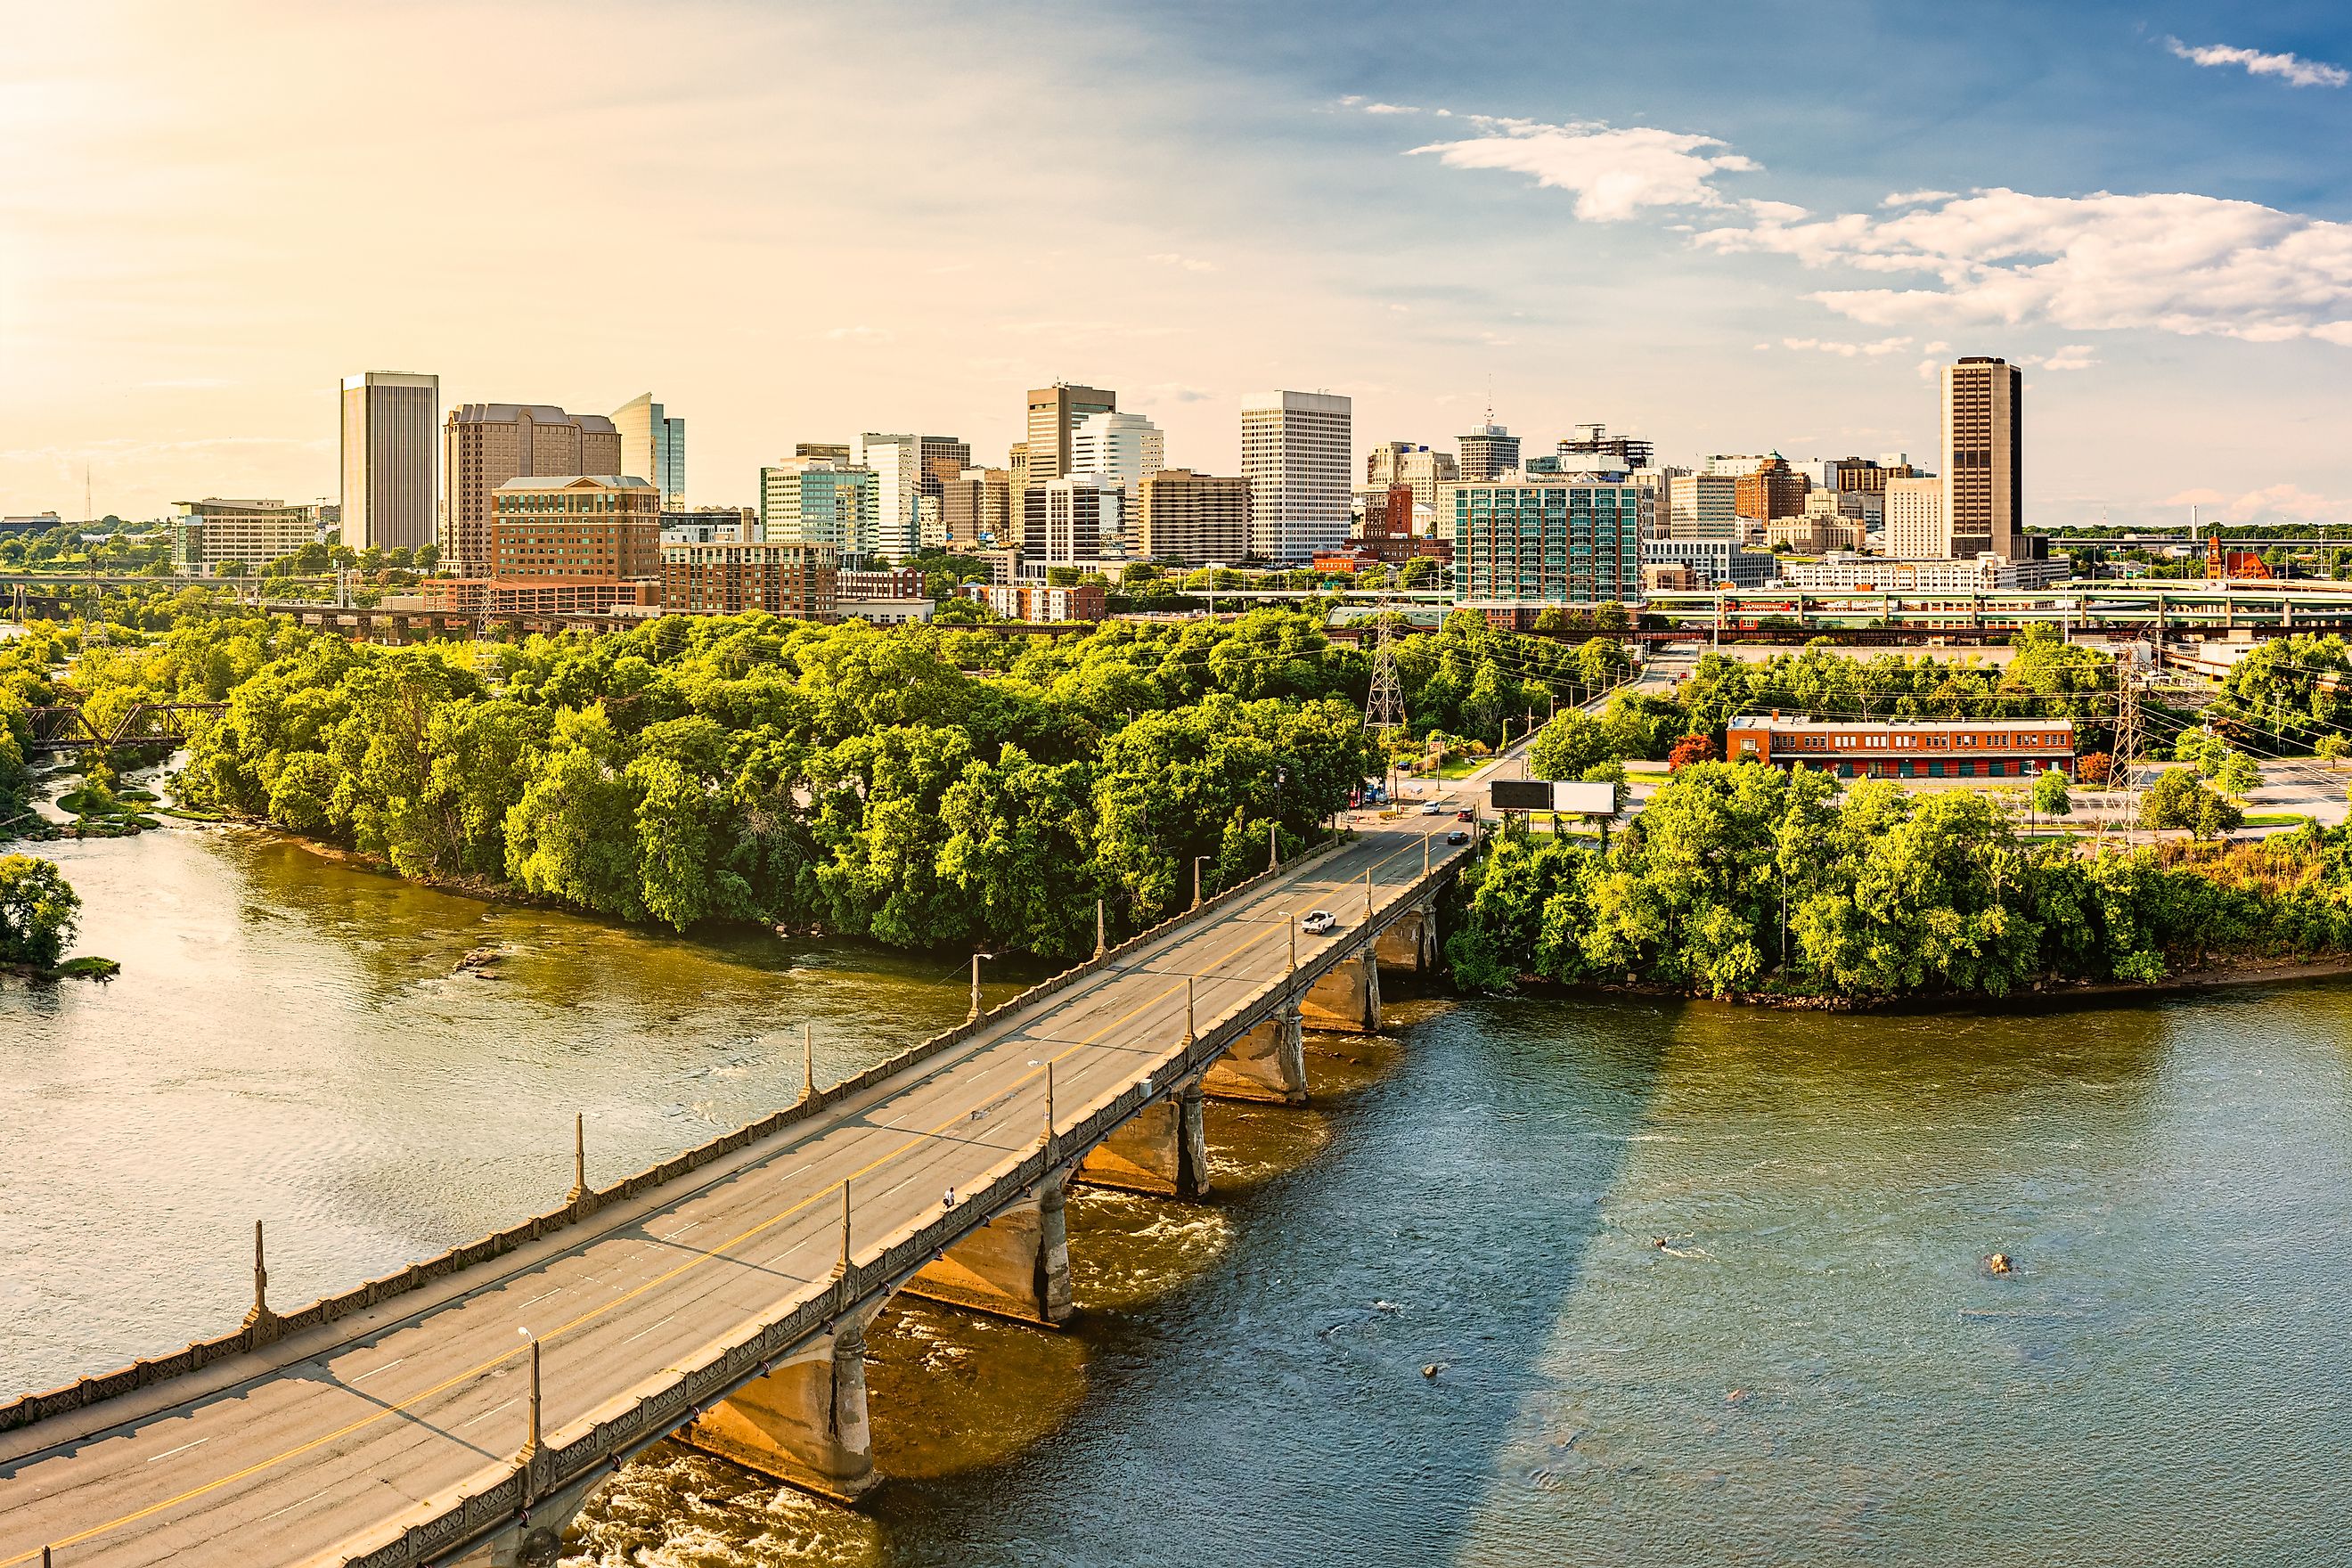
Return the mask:
[(875, 1486), (875, 1434), (866, 1420), (866, 1319), (844, 1319), (830, 1338), (767, 1378), (710, 1406), (680, 1441), (837, 1502)]

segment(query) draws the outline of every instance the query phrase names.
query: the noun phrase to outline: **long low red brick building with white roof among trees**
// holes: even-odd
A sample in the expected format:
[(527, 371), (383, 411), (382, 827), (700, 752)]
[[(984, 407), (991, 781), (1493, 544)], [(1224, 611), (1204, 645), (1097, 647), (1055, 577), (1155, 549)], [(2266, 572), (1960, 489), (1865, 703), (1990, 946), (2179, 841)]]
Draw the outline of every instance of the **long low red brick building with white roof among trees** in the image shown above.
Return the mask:
[(1740, 715), (1724, 726), (1726, 762), (1828, 769), (1839, 778), (2074, 776), (2074, 719), (1825, 719)]

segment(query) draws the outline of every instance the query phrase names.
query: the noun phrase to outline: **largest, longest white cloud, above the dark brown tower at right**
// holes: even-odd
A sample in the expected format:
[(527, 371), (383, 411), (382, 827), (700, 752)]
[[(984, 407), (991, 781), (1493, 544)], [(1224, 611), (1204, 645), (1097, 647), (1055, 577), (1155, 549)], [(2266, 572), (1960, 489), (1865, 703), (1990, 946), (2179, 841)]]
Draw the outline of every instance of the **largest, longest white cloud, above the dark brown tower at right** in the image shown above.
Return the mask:
[(2258, 202), (1990, 188), (1893, 216), (1764, 216), (1693, 244), (1933, 280), (1813, 294), (1872, 327), (2051, 322), (2352, 346), (2352, 226)]

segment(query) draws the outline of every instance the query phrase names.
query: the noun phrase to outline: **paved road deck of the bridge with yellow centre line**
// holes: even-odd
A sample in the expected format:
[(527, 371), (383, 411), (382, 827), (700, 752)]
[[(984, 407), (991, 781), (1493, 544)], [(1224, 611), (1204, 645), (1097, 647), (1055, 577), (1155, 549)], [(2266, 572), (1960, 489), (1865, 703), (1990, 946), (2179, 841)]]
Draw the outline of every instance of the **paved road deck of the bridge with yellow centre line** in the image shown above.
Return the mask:
[(419, 1505), (513, 1474), (524, 1331), (543, 1342), (550, 1443), (675, 1382), (675, 1368), (828, 1286), (844, 1178), (863, 1237), (936, 1215), (946, 1187), (974, 1190), (1009, 1152), (1037, 1147), (1033, 1063), (1056, 1063), (1058, 1124), (1075, 1124), (1181, 1056), (1188, 976), (1202, 1020), (1242, 1006), (1284, 973), (1298, 912), (1341, 917), (1331, 938), (1298, 938), (1301, 961), (1350, 943), (1364, 872), (1402, 893), (1423, 872), (1421, 839), (1374, 832), (1301, 863), (724, 1166), (459, 1274), (430, 1300), (223, 1361), (242, 1378), (230, 1387), (191, 1378), (0, 1434), (0, 1568), (38, 1563), (45, 1544), (73, 1568), (341, 1561)]

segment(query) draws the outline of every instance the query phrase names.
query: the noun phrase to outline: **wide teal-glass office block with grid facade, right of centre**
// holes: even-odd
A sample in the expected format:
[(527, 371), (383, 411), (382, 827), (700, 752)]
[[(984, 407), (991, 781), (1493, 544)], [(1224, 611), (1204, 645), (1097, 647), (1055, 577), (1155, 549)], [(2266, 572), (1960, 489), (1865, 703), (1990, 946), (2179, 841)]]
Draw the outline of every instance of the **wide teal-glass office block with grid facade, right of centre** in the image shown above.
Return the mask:
[(1642, 503), (1632, 482), (1451, 487), (1454, 602), (1484, 609), (1642, 597)]

